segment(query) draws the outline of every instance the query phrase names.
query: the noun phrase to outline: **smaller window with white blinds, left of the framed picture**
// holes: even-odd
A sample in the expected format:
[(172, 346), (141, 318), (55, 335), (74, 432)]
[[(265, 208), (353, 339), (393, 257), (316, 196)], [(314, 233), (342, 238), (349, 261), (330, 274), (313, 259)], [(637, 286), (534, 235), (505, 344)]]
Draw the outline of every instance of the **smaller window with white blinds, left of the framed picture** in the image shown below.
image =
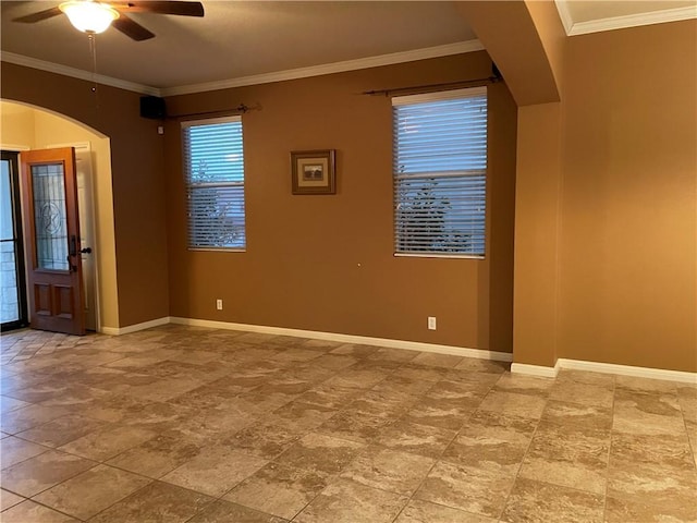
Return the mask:
[(242, 119), (182, 123), (188, 247), (244, 251)]

